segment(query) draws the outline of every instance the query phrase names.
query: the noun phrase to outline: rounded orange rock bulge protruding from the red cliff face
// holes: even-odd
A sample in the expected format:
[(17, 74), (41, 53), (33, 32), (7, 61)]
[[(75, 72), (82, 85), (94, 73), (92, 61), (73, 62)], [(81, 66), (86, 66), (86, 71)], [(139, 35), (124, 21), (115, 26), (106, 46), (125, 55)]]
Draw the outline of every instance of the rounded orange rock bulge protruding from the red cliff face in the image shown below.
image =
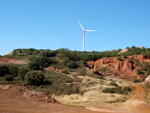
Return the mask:
[(131, 73), (132, 70), (133, 70), (133, 61), (126, 60), (122, 67), (122, 71), (126, 73)]

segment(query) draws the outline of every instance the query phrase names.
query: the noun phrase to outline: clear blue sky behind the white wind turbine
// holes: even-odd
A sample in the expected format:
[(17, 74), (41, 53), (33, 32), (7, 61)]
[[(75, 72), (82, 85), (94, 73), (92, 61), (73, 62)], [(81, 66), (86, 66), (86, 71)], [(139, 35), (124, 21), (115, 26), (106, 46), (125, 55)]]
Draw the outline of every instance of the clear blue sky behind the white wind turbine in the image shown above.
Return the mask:
[(150, 0), (0, 0), (0, 55), (18, 48), (150, 47)]

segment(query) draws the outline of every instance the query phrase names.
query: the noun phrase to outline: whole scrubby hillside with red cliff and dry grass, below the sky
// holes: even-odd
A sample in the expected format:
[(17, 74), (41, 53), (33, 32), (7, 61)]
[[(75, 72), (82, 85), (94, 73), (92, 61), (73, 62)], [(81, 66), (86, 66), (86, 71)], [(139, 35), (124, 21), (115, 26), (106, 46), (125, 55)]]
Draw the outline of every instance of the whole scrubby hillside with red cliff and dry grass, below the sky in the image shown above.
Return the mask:
[[(0, 57), (0, 84), (13, 84), (9, 91), (19, 88), (16, 94), (24, 98), (87, 109), (105, 103), (103, 108), (111, 105), (115, 110), (116, 106), (108, 103), (126, 106), (121, 103), (133, 97), (134, 87), (141, 89), (132, 83), (150, 75), (150, 49), (131, 47), (125, 53), (120, 51), (15, 49)], [(144, 89), (142, 93), (145, 96)], [(128, 101), (131, 106), (132, 101)]]

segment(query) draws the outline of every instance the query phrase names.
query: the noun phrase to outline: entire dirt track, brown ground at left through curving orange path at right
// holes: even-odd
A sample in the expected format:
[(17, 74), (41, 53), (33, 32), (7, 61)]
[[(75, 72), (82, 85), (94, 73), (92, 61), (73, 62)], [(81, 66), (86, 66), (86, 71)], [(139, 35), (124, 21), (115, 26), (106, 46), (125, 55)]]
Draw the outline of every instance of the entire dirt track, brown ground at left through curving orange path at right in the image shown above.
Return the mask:
[(136, 89), (135, 95), (117, 110), (88, 108), (93, 111), (27, 99), (20, 87), (12, 86), (9, 90), (0, 90), (0, 113), (150, 113), (150, 105), (144, 102), (145, 90), (136, 84), (132, 86)]

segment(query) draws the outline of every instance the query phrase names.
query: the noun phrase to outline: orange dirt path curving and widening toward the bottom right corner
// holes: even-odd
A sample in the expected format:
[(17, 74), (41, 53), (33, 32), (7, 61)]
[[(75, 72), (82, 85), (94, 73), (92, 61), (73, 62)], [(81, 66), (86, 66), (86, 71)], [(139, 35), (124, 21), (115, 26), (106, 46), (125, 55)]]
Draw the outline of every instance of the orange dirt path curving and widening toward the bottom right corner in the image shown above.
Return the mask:
[(145, 103), (145, 90), (137, 84), (132, 84), (135, 87), (135, 94), (125, 103), (117, 104), (118, 107), (113, 104), (104, 105), (103, 108), (95, 108), (95, 107), (86, 107), (87, 109), (93, 111), (103, 111), (103, 112), (111, 112), (111, 113), (150, 113), (150, 105)]

